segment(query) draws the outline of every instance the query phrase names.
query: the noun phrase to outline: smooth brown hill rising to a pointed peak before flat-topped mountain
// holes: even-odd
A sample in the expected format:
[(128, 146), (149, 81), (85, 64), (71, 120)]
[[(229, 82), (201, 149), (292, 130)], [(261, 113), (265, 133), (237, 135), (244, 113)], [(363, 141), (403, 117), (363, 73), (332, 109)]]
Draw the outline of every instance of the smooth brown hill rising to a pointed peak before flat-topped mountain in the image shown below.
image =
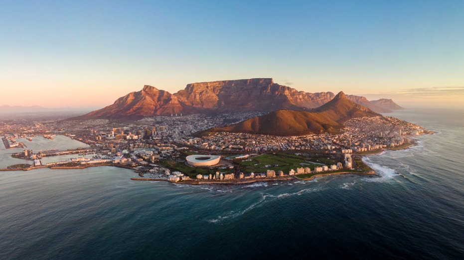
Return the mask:
[(198, 133), (198, 135), (211, 132), (279, 136), (337, 133), (343, 127), (343, 123), (349, 119), (380, 115), (348, 98), (343, 92), (339, 92), (332, 100), (311, 112), (277, 110), (234, 125), (209, 129)]

